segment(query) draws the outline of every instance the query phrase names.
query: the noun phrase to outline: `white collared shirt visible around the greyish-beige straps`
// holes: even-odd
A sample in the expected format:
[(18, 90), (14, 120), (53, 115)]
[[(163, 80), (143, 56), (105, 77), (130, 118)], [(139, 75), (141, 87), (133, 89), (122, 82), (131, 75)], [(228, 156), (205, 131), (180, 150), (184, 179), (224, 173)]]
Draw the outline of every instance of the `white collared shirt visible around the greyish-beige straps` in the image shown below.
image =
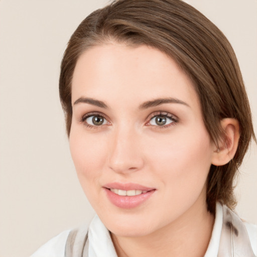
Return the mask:
[[(223, 222), (223, 207), (221, 204), (216, 205), (215, 222), (212, 230), (211, 239), (204, 257), (216, 257), (219, 249)], [(257, 226), (244, 222), (250, 244), (255, 256), (257, 256)], [(65, 244), (70, 230), (66, 230), (52, 238), (46, 244), (41, 246), (31, 257), (65, 257)], [(89, 257), (117, 257), (109, 231), (103, 225), (96, 215), (88, 227)], [(101, 242), (99, 244), (99, 242)]]

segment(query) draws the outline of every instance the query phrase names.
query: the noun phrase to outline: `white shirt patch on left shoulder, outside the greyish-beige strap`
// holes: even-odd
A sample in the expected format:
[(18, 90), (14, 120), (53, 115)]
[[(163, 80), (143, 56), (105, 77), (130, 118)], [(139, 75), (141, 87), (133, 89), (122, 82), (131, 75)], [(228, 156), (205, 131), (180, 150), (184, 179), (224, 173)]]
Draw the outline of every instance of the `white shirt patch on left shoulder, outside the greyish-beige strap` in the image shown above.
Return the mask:
[(65, 230), (42, 245), (30, 257), (64, 257), (65, 245), (71, 230)]

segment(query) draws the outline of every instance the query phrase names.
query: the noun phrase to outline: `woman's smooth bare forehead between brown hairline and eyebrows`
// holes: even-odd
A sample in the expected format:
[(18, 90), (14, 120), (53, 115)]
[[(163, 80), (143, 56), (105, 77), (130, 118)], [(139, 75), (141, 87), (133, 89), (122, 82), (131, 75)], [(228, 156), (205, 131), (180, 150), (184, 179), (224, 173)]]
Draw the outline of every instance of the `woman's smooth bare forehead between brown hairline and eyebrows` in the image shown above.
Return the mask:
[(102, 100), (174, 97), (198, 101), (193, 83), (177, 63), (146, 46), (109, 43), (86, 50), (72, 79), (72, 102), (89, 96)]

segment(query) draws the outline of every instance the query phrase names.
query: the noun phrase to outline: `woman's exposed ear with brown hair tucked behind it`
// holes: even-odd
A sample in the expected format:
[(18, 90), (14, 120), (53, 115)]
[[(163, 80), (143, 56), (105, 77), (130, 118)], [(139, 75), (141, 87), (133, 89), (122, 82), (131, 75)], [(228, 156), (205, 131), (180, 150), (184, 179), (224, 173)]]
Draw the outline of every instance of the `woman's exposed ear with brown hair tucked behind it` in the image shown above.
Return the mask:
[(233, 159), (240, 138), (239, 122), (235, 118), (224, 118), (220, 121), (224, 131), (224, 136), (218, 142), (218, 148), (215, 147), (212, 155), (212, 164), (222, 166)]

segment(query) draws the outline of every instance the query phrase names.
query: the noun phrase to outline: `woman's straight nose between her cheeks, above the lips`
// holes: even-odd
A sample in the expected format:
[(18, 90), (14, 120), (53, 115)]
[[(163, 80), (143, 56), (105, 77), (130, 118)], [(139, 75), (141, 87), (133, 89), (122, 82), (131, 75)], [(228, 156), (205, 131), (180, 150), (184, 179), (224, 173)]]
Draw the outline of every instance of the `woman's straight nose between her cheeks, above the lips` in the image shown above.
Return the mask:
[(117, 173), (131, 173), (144, 166), (140, 148), (140, 135), (133, 131), (119, 130), (113, 133), (110, 142), (108, 166)]

